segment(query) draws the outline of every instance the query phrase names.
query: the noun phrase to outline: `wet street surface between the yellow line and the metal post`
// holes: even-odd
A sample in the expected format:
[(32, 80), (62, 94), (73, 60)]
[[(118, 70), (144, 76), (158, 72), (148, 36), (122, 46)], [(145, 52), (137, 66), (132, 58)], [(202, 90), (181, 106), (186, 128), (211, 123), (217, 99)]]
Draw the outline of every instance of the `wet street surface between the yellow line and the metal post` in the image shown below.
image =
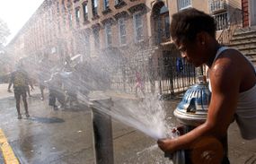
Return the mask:
[[(31, 117), (18, 120), (13, 99), (4, 99), (1, 104), (1, 127), (21, 163), (57, 163), (68, 155), (83, 152), (84, 160), (93, 160), (92, 134), (88, 133), (90, 112), (54, 111), (47, 101), (29, 98)], [(74, 163), (74, 158), (68, 158)], [(84, 160), (78, 163), (84, 163)]]

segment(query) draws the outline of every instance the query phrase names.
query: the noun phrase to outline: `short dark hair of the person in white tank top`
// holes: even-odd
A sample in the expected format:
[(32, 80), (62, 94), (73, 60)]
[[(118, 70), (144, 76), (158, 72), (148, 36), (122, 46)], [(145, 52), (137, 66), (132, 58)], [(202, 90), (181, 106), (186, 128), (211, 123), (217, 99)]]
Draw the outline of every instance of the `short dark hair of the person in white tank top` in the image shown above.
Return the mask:
[(170, 30), (172, 39), (178, 39), (179, 42), (193, 41), (201, 31), (215, 38), (216, 21), (207, 13), (188, 8), (172, 15)]

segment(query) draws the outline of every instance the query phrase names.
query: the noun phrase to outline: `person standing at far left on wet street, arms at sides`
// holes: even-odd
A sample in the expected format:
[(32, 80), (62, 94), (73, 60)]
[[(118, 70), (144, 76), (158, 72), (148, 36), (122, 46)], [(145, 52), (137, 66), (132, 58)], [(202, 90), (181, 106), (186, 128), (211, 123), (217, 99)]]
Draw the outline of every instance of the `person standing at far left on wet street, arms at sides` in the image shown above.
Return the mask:
[(29, 80), (28, 73), (24, 71), (22, 64), (19, 64), (17, 66), (17, 69), (13, 73), (11, 73), (7, 91), (12, 92), (11, 91), (12, 84), (13, 84), (14, 98), (16, 100), (16, 109), (18, 112), (18, 119), (22, 118), (21, 109), (20, 109), (21, 97), (24, 104), (25, 115), (26, 117), (30, 117), (26, 92), (27, 92), (28, 84), (31, 85), (31, 90), (33, 90), (33, 86), (31, 81)]

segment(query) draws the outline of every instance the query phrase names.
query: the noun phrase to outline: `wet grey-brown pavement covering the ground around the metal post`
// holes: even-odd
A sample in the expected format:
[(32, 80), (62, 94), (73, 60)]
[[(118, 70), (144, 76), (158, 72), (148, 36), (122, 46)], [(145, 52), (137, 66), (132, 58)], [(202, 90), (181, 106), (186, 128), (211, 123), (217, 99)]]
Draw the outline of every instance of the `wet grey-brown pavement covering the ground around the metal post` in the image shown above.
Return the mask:
[[(33, 92), (34, 97), (28, 98), (31, 117), (22, 115), (23, 118), (18, 120), (13, 96), (0, 93), (0, 128), (22, 164), (94, 163), (90, 108), (82, 105), (79, 108), (53, 110), (49, 108), (47, 99), (41, 101), (39, 92)], [(111, 92), (109, 95), (117, 104), (121, 103), (120, 100), (134, 100), (128, 94)], [(173, 118), (172, 111), (180, 100), (164, 101), (169, 117)], [(175, 119), (172, 123), (177, 124)], [(172, 163), (164, 158), (152, 138), (115, 120), (112, 121), (112, 128), (115, 163)], [(256, 163), (255, 140), (243, 140), (236, 124), (229, 128), (228, 142), (232, 164)]]

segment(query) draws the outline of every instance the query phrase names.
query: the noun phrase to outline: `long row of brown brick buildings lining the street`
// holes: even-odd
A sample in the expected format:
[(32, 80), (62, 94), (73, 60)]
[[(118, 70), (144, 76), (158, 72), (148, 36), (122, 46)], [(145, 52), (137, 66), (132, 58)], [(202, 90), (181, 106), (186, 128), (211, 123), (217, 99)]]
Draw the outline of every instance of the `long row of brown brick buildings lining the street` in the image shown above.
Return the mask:
[[(123, 65), (113, 73), (119, 76), (125, 73), (126, 78), (132, 79), (135, 69), (144, 73), (151, 70), (151, 75), (144, 77), (146, 81), (150, 81), (152, 74), (153, 81), (165, 81), (165, 72), (175, 69), (179, 56), (169, 32), (172, 13), (195, 7), (212, 14), (217, 22), (217, 39), (225, 44), (235, 28), (255, 24), (253, 3), (253, 0), (45, 0), (9, 47), (15, 58), (27, 56), (32, 63), (37, 63), (44, 54), (57, 63), (63, 63), (66, 56), (80, 54), (91, 63), (102, 60), (110, 65)], [(128, 80), (119, 76), (112, 80), (116, 87), (125, 88), (120, 83)], [(174, 73), (172, 83), (175, 78)], [(163, 91), (164, 82), (161, 87), (159, 90)]]

